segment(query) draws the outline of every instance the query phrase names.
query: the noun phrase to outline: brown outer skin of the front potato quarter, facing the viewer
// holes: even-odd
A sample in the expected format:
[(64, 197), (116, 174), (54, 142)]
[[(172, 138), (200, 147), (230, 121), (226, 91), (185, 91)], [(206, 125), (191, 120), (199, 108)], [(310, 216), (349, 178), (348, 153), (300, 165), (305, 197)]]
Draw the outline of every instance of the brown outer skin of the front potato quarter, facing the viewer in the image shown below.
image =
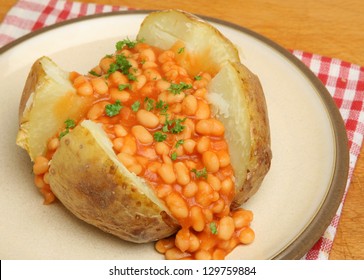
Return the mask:
[(67, 209), (123, 240), (150, 242), (178, 229), (80, 125), (62, 138), (49, 174), (52, 192)]

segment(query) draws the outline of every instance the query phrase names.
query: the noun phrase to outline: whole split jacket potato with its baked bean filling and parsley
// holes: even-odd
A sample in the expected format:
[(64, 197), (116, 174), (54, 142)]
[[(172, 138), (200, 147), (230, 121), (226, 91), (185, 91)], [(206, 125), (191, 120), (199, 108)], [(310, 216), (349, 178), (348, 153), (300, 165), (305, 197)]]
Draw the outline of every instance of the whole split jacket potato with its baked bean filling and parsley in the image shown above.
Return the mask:
[[(178, 232), (174, 245), (157, 243), (167, 258), (224, 258), (250, 243), (252, 215), (233, 209), (259, 189), (272, 157), (258, 77), (217, 29), (179, 10), (151, 13), (137, 41), (116, 48), (88, 75), (34, 63), (16, 142), (36, 185), (127, 241)], [(215, 236), (229, 249), (203, 245)]]

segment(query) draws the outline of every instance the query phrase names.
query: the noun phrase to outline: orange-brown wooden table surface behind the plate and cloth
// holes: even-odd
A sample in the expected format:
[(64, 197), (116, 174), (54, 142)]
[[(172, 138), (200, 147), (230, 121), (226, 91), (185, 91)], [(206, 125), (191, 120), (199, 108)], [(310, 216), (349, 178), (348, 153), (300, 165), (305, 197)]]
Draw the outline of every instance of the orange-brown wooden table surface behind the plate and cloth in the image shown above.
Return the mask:
[[(142, 9), (179, 8), (247, 27), (288, 49), (364, 66), (362, 0), (80, 0)], [(16, 0), (1, 0), (0, 22)], [(364, 148), (346, 197), (330, 259), (364, 259)]]

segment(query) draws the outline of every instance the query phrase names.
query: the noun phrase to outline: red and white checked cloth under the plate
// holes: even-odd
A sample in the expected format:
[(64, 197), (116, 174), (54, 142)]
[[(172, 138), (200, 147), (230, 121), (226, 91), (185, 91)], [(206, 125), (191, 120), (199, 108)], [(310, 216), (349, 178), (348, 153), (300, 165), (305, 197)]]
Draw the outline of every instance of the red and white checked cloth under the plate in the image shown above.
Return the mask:
[[(0, 25), (0, 47), (39, 28), (71, 18), (131, 10), (128, 7), (64, 0), (19, 0)], [(339, 59), (294, 50), (326, 86), (345, 121), (349, 138), (350, 169), (342, 202), (324, 235), (303, 259), (328, 259), (364, 135), (364, 68)]]

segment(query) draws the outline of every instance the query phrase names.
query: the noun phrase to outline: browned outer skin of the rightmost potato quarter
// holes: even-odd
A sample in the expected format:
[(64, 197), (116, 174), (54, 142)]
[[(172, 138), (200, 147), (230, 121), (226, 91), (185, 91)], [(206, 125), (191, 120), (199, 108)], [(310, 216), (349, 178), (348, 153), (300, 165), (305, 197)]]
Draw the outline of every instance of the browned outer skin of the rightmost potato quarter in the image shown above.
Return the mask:
[(254, 195), (268, 173), (272, 160), (267, 105), (256, 75), (241, 63), (232, 64), (237, 71), (250, 118), (251, 150), (247, 176), (242, 186), (236, 186), (232, 207), (239, 207)]

